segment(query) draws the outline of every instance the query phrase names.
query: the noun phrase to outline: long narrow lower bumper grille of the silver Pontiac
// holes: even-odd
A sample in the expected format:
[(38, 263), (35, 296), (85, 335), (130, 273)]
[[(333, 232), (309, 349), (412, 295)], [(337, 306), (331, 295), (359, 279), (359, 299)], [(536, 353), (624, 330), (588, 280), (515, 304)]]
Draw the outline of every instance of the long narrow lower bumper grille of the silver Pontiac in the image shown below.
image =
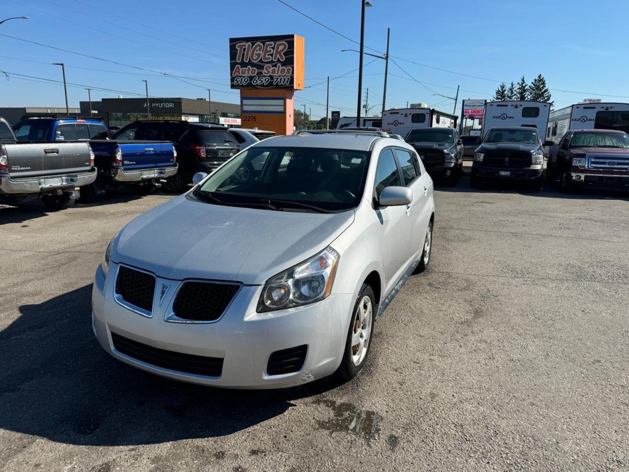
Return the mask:
[(223, 373), (222, 357), (195, 356), (167, 351), (128, 339), (114, 332), (111, 332), (111, 340), (116, 351), (153, 366), (208, 377), (220, 377)]

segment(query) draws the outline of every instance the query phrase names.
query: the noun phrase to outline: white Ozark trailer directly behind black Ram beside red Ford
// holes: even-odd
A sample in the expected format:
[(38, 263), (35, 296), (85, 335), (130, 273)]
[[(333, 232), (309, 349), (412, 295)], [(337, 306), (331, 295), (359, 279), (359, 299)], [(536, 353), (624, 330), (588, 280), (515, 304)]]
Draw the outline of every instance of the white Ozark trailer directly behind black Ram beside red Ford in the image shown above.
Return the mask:
[(537, 133), (543, 140), (548, 128), (548, 115), (550, 103), (543, 101), (489, 101), (485, 104), (482, 136), (484, 138), (491, 128), (497, 126), (529, 126), (537, 128)]

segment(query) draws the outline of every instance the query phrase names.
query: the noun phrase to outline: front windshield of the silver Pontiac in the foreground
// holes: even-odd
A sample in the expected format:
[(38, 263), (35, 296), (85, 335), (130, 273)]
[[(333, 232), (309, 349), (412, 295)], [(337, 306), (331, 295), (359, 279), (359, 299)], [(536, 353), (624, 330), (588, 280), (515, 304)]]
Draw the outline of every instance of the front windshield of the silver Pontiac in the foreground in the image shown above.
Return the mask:
[(347, 210), (360, 201), (368, 161), (367, 151), (255, 145), (214, 172), (197, 196), (276, 210)]

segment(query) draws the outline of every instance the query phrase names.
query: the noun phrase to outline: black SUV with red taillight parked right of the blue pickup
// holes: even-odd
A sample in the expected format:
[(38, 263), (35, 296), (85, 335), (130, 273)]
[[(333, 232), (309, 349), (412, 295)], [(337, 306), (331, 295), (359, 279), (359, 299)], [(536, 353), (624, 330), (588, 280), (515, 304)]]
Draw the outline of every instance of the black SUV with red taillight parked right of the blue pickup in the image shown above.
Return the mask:
[(166, 140), (175, 145), (179, 171), (164, 189), (181, 193), (196, 172), (212, 172), (240, 147), (225, 126), (176, 120), (134, 121), (113, 135), (114, 139)]

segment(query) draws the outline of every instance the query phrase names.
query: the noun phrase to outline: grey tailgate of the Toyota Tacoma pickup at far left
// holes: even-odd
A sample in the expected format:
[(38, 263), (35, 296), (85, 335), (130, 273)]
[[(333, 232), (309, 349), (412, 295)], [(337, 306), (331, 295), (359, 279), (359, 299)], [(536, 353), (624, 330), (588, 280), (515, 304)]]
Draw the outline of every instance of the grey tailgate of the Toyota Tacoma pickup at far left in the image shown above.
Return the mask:
[(8, 143), (4, 147), (13, 178), (91, 170), (86, 142)]

